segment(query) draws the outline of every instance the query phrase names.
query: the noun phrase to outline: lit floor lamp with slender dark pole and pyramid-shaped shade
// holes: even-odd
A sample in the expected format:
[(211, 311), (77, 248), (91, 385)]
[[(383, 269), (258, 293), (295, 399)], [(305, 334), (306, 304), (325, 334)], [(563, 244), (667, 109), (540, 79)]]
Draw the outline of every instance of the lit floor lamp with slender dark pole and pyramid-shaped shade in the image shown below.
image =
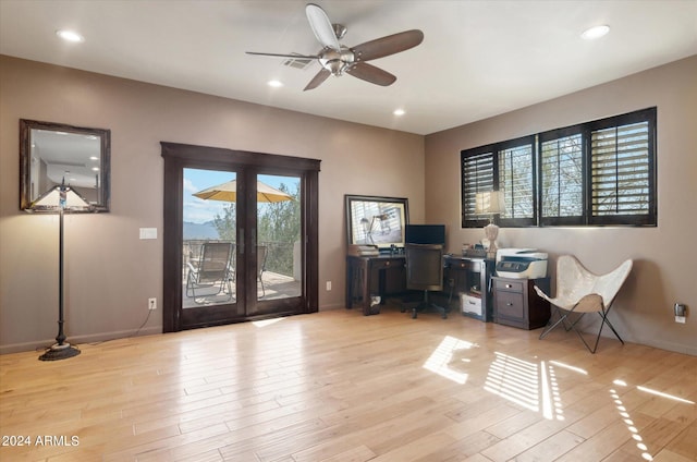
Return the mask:
[(58, 361), (77, 356), (80, 350), (72, 346), (65, 341), (63, 332), (64, 318), (64, 293), (63, 293), (63, 215), (68, 211), (88, 211), (89, 203), (75, 192), (70, 185), (65, 185), (65, 181), (60, 185), (46, 192), (34, 204), (32, 210), (36, 211), (57, 211), (59, 215), (59, 267), (58, 267), (58, 336), (56, 343), (39, 356), (40, 361)]

